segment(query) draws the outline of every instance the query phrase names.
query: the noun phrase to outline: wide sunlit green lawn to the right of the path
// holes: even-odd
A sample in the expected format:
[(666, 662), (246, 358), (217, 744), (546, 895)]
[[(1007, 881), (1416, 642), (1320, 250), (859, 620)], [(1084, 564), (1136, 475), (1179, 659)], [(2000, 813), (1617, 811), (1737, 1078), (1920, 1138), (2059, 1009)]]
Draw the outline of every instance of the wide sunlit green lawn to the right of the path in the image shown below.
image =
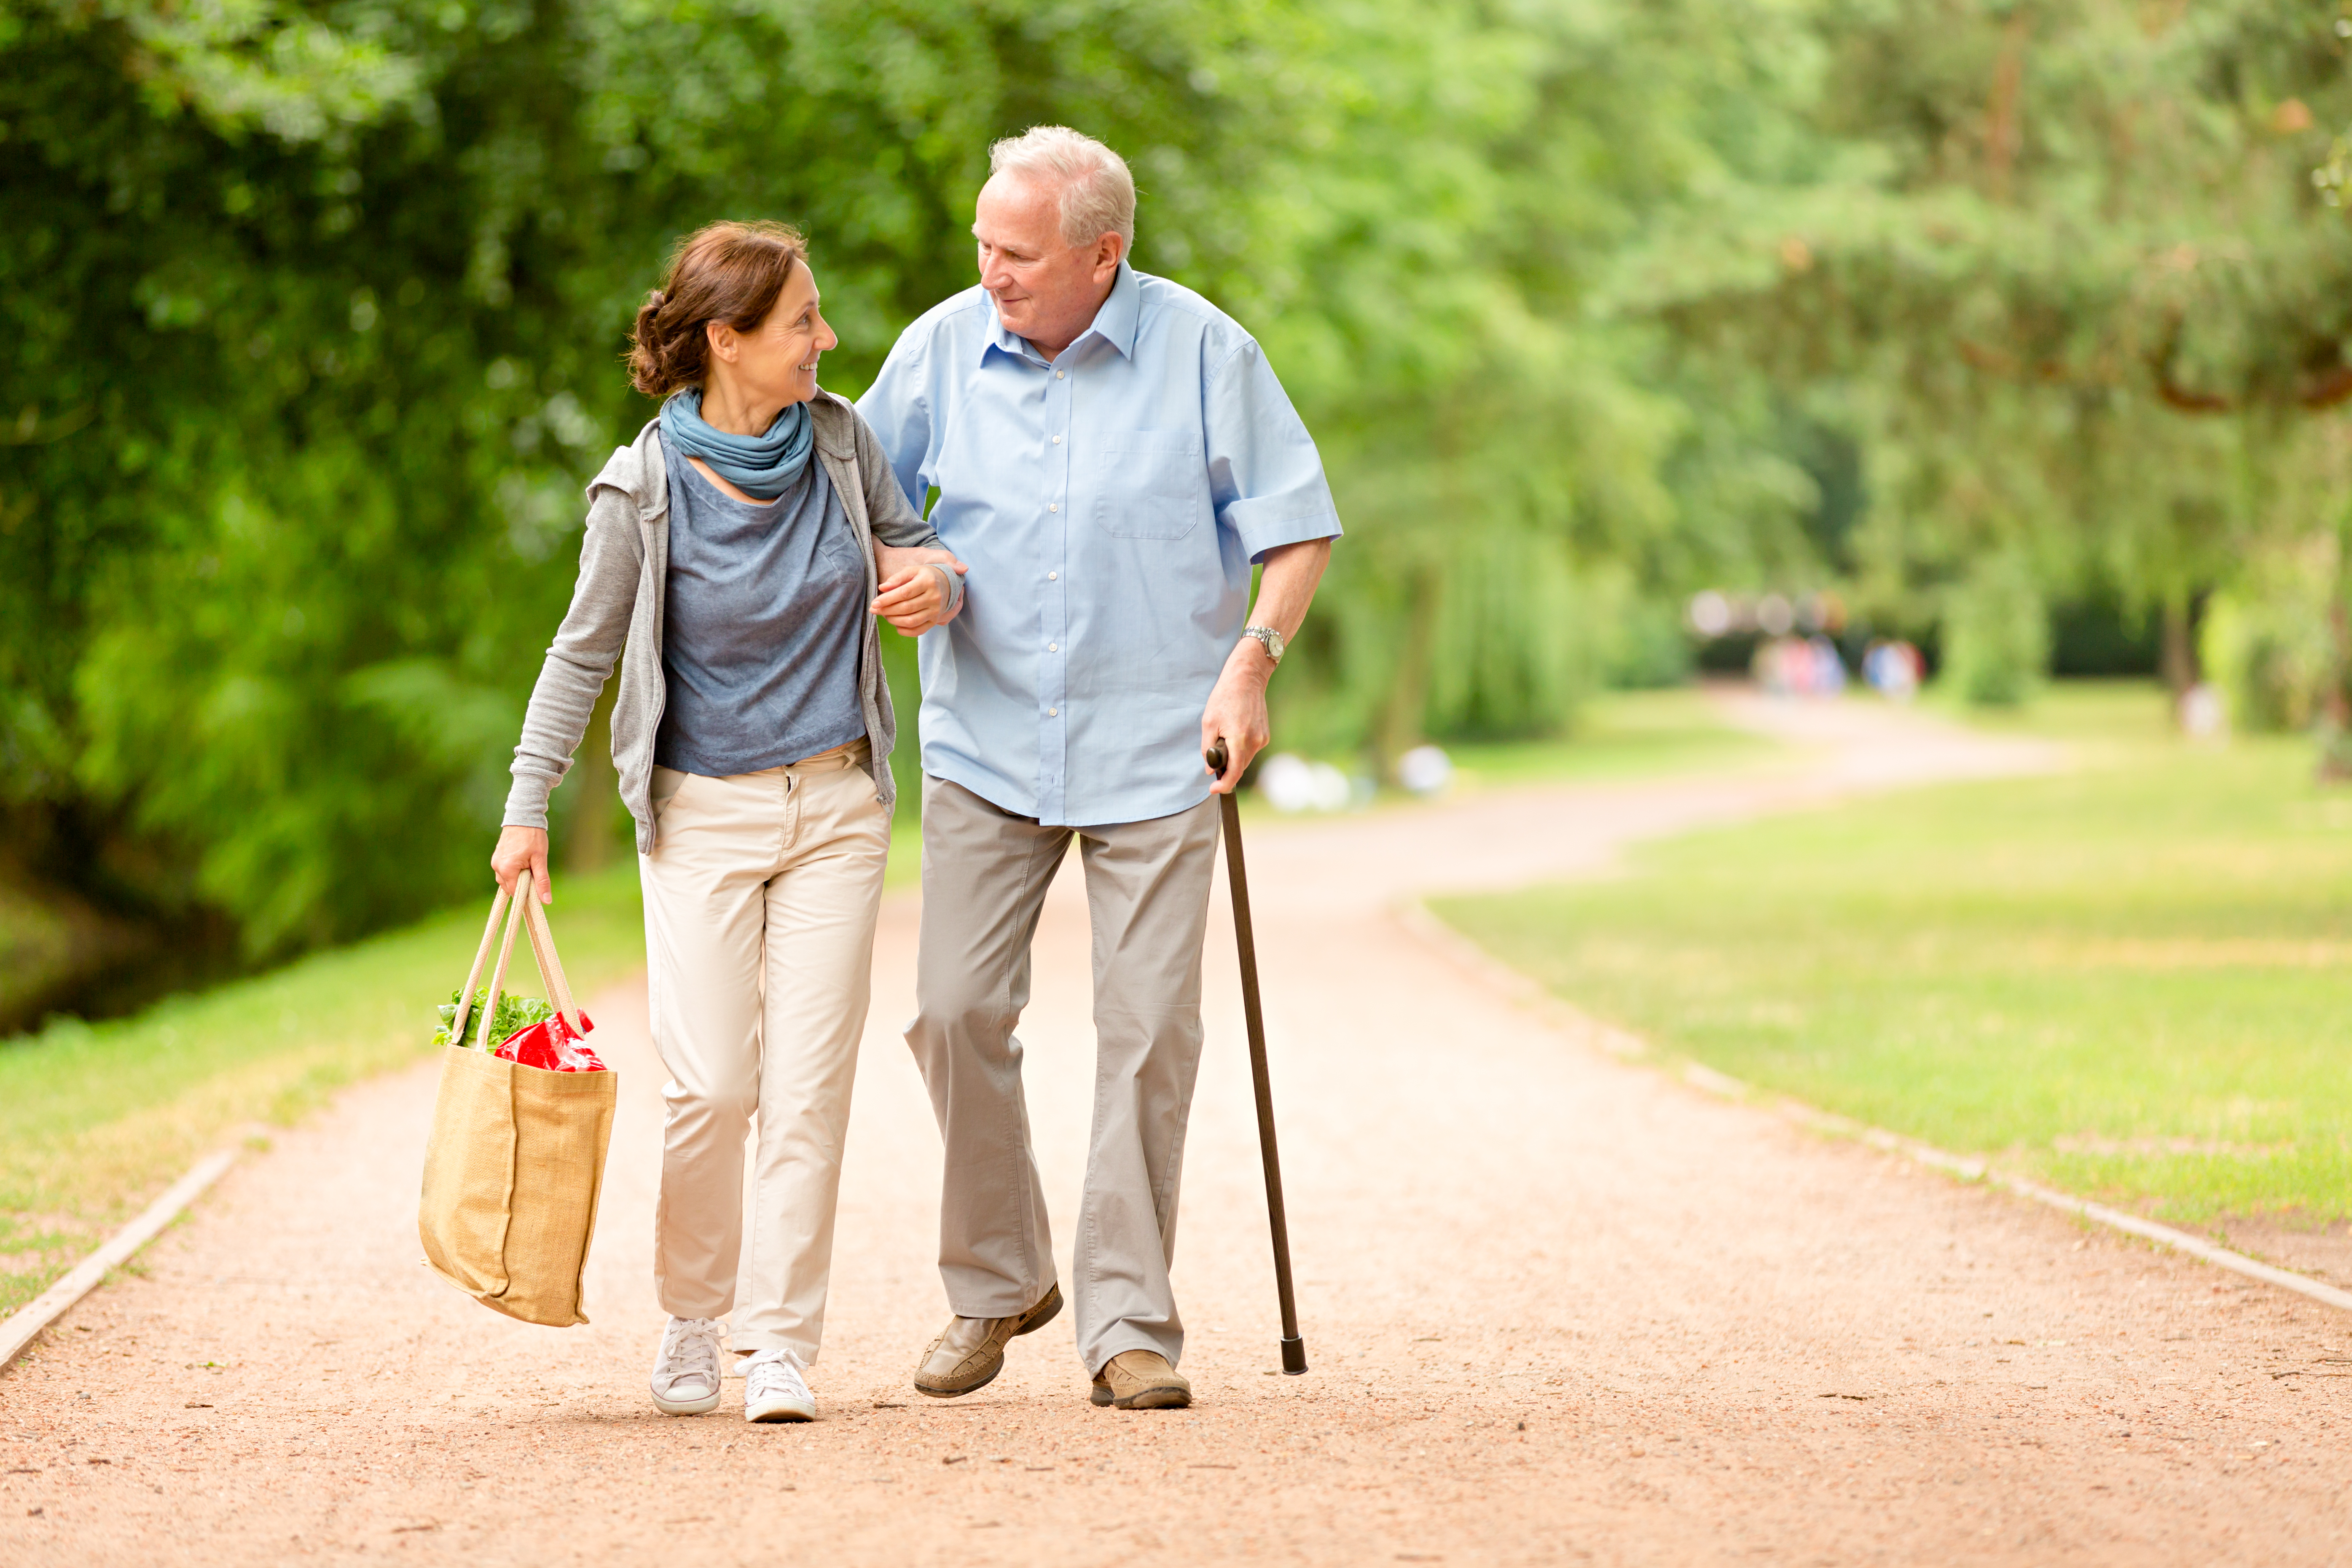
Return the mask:
[(2352, 1213), (2352, 792), (2147, 686), (1997, 719), (2065, 776), (1698, 832), (1439, 914), (1769, 1091), (2176, 1220)]

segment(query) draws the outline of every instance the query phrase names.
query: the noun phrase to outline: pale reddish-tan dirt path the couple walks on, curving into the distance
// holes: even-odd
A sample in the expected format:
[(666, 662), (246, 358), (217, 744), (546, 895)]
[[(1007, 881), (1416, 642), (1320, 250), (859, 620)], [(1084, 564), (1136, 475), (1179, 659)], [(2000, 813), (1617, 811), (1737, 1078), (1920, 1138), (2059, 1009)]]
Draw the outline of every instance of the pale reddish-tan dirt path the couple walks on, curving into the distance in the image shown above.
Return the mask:
[[(1757, 717), (1762, 715), (1762, 717)], [(1094, 1410), (1056, 1324), (955, 1403), (938, 1145), (875, 959), (814, 1427), (644, 1399), (656, 1067), (623, 1110), (595, 1326), (419, 1265), (419, 1067), (238, 1168), (0, 1380), (0, 1561), (2216, 1563), (2352, 1559), (2352, 1319), (1623, 1065), (1482, 990), (1399, 896), (1632, 837), (2046, 762), (1863, 703), (1755, 708), (1802, 766), (1270, 825), (1251, 842), (1315, 1371), (1279, 1378), (1230, 933), (1178, 1291), (1190, 1413)], [(557, 907), (560, 917), (560, 907)], [(1033, 1114), (1068, 1227), (1091, 1051), (1070, 867)], [(1063, 1244), (1065, 1246), (1065, 1244)], [(729, 1408), (741, 1385), (729, 1382)]]

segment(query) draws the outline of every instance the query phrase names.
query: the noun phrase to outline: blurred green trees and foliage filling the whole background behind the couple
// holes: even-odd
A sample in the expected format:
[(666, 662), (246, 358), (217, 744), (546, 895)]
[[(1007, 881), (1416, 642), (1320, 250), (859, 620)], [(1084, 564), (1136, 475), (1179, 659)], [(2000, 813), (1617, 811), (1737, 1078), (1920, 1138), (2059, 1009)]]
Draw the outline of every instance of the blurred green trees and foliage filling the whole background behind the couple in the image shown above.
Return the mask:
[(0, 1027), (475, 889), (668, 244), (804, 226), (854, 395), (1044, 120), (1127, 153), (1138, 266), (1324, 447), (1284, 745), (1569, 733), (1724, 588), (1835, 590), (1980, 701), (2154, 658), (2333, 757), (2347, 40), (2345, 0), (0, 0)]

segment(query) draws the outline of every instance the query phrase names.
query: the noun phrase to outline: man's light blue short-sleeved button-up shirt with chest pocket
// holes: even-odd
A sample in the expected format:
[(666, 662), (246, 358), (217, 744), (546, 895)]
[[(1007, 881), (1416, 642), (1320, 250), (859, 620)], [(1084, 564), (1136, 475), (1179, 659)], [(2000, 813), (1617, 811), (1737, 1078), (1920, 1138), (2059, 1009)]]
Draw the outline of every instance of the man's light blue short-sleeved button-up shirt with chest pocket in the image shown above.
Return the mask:
[(1341, 531), (1258, 343), (1120, 263), (1049, 364), (974, 287), (898, 336), (858, 414), (971, 567), (964, 614), (922, 635), (924, 771), (1073, 827), (1207, 799), (1200, 712), (1251, 562)]

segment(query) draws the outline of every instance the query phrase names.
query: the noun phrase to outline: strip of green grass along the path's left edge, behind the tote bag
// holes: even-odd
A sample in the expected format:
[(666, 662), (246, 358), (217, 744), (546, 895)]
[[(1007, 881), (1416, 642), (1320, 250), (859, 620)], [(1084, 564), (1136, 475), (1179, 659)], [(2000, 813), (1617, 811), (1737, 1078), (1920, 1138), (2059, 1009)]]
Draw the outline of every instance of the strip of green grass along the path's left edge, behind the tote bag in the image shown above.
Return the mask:
[[(487, 912), (485, 900), (134, 1018), (0, 1041), (0, 1314), (238, 1126), (289, 1124), (343, 1084), (430, 1056), (433, 1009), (466, 978)], [(642, 966), (635, 863), (557, 877), (550, 924), (576, 992)], [(508, 980), (543, 994), (520, 938)]]

